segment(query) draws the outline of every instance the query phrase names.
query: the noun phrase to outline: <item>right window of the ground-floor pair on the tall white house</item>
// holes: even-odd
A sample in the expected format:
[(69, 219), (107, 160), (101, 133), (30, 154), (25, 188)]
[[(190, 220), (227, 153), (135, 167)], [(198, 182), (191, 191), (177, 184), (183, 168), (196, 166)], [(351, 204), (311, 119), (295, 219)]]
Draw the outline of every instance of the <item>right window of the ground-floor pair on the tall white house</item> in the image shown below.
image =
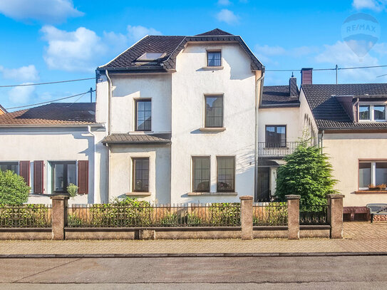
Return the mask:
[(217, 157), (217, 192), (234, 192), (235, 157)]

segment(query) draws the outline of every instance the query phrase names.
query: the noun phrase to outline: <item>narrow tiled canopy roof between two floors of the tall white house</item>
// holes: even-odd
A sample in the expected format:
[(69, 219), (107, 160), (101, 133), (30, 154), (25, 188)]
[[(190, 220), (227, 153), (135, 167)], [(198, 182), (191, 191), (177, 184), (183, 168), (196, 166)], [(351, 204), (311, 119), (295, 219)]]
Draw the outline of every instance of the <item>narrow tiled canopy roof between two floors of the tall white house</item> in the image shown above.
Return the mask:
[(130, 134), (130, 133), (113, 133), (103, 139), (104, 144), (145, 144), (145, 143), (170, 143), (170, 133), (160, 134)]

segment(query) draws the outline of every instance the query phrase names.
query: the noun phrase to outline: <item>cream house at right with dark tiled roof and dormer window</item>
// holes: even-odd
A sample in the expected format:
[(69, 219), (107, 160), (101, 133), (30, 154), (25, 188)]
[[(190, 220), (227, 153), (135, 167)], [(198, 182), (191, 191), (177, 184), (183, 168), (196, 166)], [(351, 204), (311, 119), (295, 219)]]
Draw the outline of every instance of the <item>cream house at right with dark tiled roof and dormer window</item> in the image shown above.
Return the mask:
[(387, 83), (302, 84), (319, 142), (330, 157), (344, 206), (387, 202)]

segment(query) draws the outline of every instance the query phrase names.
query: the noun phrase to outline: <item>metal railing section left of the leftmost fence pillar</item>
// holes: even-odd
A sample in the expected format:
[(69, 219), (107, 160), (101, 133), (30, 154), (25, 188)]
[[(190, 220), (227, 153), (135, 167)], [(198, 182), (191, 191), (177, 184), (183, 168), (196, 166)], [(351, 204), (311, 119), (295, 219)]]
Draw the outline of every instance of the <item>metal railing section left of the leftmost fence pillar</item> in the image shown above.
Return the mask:
[(51, 205), (0, 205), (0, 227), (51, 227)]

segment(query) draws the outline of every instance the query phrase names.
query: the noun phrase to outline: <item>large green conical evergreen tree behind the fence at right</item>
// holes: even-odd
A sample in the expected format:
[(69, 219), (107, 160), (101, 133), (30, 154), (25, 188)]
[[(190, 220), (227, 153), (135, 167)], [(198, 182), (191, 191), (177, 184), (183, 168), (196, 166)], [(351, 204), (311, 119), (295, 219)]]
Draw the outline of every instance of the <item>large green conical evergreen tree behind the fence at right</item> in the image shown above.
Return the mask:
[(303, 207), (326, 204), (326, 195), (338, 193), (334, 190), (337, 180), (331, 175), (329, 157), (317, 146), (308, 146), (302, 141), (296, 150), (284, 158), (287, 162), (277, 170), (277, 195), (301, 195)]

